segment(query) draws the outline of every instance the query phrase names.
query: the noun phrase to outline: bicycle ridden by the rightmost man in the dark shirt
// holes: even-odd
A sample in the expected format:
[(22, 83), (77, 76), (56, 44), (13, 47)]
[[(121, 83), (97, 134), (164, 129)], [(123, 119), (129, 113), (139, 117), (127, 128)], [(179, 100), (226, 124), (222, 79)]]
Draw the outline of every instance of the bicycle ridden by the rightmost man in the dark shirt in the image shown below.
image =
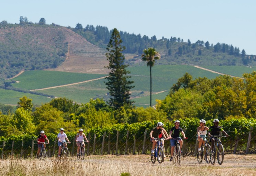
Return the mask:
[(224, 147), (221, 143), (221, 138), (222, 137), (226, 137), (226, 136), (212, 136), (212, 137), (216, 137), (216, 141), (214, 143), (214, 148), (213, 148), (213, 153), (212, 150), (210, 150), (211, 154), (210, 154), (210, 159), (211, 159), (211, 163), (215, 164), (216, 161), (216, 153), (217, 153), (217, 160), (218, 163), (221, 165), (223, 163), (224, 160)]

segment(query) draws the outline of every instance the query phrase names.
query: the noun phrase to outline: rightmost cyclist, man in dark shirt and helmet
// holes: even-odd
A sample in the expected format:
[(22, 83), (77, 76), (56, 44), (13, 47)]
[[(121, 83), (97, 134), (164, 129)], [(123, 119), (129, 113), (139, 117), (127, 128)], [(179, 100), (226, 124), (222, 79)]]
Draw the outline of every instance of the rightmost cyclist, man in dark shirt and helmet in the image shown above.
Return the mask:
[(213, 120), (213, 124), (210, 128), (209, 128), (209, 131), (208, 131), (208, 135), (210, 136), (210, 141), (212, 143), (211, 145), (211, 149), (213, 151), (214, 149), (214, 143), (216, 141), (216, 137), (214, 136), (219, 136), (220, 135), (220, 132), (223, 132), (225, 136), (229, 136), (224, 130), (222, 127), (219, 126), (219, 120), (218, 119), (214, 119)]

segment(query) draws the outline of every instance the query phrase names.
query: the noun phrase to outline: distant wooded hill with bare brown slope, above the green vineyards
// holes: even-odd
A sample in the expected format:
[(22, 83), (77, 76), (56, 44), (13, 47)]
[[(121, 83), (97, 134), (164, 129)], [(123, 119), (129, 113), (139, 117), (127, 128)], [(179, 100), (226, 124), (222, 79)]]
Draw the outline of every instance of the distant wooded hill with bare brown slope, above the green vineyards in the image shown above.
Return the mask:
[[(111, 35), (107, 27), (87, 25), (75, 28), (33, 23), (0, 23), (1, 81), (12, 78), (22, 70), (56, 70), (81, 73), (108, 72), (105, 58)], [(156, 62), (162, 65), (232, 65), (255, 66), (255, 55), (225, 43), (215, 45), (197, 41), (191, 43), (171, 37), (157, 40), (120, 31), (126, 64), (145, 65), (141, 54), (154, 47), (161, 54)]]

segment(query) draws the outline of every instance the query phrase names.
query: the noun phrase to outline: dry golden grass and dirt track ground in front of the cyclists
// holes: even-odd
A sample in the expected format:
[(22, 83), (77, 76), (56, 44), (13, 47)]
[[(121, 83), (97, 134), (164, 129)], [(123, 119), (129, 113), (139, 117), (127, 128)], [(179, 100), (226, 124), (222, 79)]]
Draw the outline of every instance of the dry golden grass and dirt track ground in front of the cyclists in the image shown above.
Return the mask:
[(0, 160), (0, 175), (256, 175), (256, 155), (225, 155), (219, 165), (198, 164), (196, 157), (183, 157), (179, 165), (169, 161), (152, 164), (149, 155), (90, 155), (84, 161), (48, 158)]

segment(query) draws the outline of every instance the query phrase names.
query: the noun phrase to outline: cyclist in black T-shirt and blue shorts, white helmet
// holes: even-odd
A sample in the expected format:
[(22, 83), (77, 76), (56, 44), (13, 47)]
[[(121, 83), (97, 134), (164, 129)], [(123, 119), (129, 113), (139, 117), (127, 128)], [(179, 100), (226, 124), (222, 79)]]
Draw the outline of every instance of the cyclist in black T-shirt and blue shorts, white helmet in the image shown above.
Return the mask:
[[(175, 126), (172, 127), (170, 132), (169, 132), (169, 138), (171, 139), (171, 158), (170, 158), (170, 161), (172, 161), (174, 147), (176, 145), (176, 140), (178, 140), (178, 139), (172, 139), (172, 138), (180, 137), (180, 133), (181, 133), (182, 136), (185, 139), (187, 139), (185, 133), (183, 132), (182, 128), (180, 127), (180, 121), (179, 120), (175, 120), (174, 121), (174, 125)], [(182, 139), (179, 139), (179, 143), (180, 143), (180, 153), (183, 153), (182, 150), (181, 150), (182, 144), (183, 144)]]

